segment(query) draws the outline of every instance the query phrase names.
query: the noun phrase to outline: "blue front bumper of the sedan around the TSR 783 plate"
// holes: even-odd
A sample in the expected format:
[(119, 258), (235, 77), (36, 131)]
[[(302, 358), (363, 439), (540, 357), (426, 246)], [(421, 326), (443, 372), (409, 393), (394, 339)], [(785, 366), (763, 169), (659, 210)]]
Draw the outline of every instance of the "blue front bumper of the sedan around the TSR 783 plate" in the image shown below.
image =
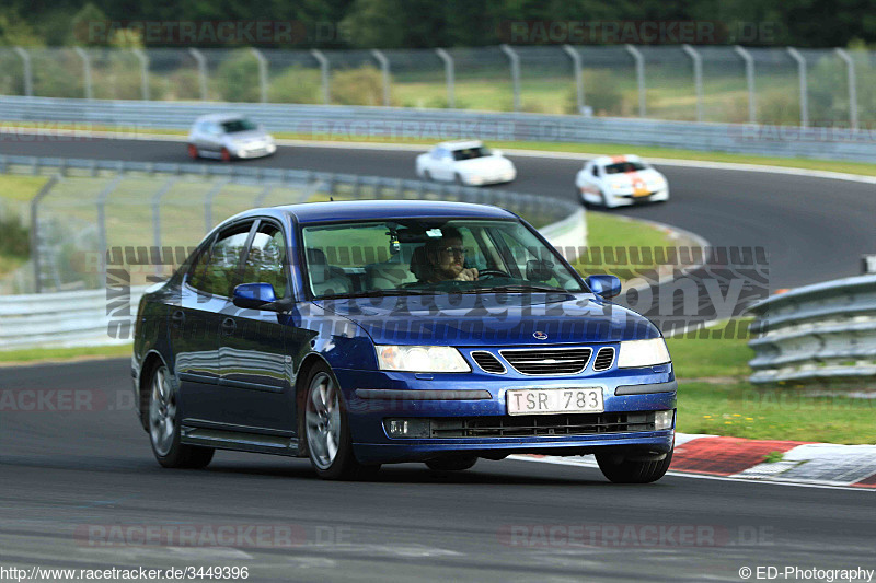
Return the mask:
[[(361, 463), (418, 462), (454, 453), (502, 457), (510, 454), (584, 455), (598, 451), (637, 450), (666, 453), (672, 447), (673, 429), (595, 431), (577, 434), (511, 434), (489, 436), (429, 436), (419, 439), (390, 438), (384, 420), (392, 418), (430, 418), (438, 420), (495, 417), (497, 423), (509, 419), (506, 394), (514, 388), (602, 388), (606, 415), (642, 415), (675, 410), (676, 390), (671, 366), (655, 372), (652, 368), (630, 373), (592, 377), (497, 378), (485, 374), (435, 374), (430, 380), (413, 373), (335, 370), (344, 390), (348, 420), (354, 435), (354, 452)], [(424, 375), (419, 375), (424, 376)], [(626, 385), (649, 385), (644, 394), (618, 395)], [(466, 390), (488, 393), (488, 398), (415, 399), (361, 398), (357, 389), (395, 389), (403, 393), (424, 390)], [(622, 389), (621, 393), (625, 390)], [(361, 393), (361, 392), (360, 392)], [(563, 415), (563, 413), (561, 413)], [(550, 423), (551, 417), (540, 416)], [(642, 425), (639, 425), (641, 428)], [(675, 428), (675, 420), (672, 423)], [(511, 431), (514, 433), (514, 431)], [(519, 433), (519, 432), (518, 432)]]

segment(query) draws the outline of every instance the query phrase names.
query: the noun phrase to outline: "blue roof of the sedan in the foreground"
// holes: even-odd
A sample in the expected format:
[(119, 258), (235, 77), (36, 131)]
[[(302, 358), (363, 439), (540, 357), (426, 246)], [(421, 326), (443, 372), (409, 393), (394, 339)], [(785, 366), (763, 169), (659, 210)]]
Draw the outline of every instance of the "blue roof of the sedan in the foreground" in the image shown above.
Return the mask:
[[(263, 209), (252, 209), (233, 217), (293, 217), (299, 223), (323, 223), (332, 221), (368, 221), (372, 219), (517, 219), (505, 209), (469, 202), (443, 202), (433, 200), (337, 200), (333, 202), (304, 202)], [(232, 219), (229, 219), (232, 220)]]

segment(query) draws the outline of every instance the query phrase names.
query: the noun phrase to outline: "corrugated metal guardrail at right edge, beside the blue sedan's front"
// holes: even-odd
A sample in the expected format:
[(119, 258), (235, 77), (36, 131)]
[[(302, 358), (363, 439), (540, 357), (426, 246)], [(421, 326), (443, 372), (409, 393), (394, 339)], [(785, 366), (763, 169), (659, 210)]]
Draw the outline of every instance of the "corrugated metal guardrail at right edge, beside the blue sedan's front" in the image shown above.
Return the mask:
[(876, 378), (876, 276), (806, 285), (749, 311), (752, 383)]

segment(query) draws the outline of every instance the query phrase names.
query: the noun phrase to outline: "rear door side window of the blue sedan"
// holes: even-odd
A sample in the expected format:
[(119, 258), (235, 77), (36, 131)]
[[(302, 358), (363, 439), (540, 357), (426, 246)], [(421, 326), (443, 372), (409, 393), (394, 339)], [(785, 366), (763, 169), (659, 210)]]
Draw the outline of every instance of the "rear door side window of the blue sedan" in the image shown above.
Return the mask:
[(209, 254), (195, 261), (188, 282), (211, 295), (230, 298), (240, 283), (240, 261), (252, 223), (237, 225), (219, 234)]

